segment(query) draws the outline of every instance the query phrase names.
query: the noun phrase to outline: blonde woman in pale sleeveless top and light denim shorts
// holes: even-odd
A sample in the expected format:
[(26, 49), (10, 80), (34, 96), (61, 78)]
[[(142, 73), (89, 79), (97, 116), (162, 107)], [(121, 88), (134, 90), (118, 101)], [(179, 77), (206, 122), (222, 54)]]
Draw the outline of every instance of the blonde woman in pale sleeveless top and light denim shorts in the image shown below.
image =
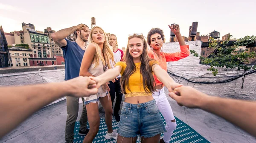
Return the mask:
[[(89, 36), (89, 45), (84, 52), (81, 63), (80, 75), (96, 77), (103, 74), (107, 69), (111, 69), (113, 61), (113, 49), (108, 43), (107, 35), (98, 26), (93, 27)], [(108, 83), (99, 87), (97, 94), (84, 98), (87, 109), (90, 131), (85, 136), (83, 143), (91, 143), (99, 131), (99, 101), (105, 110), (105, 120), (108, 132), (106, 139), (117, 139), (117, 133), (112, 129), (112, 104), (106, 92), (109, 92)]]

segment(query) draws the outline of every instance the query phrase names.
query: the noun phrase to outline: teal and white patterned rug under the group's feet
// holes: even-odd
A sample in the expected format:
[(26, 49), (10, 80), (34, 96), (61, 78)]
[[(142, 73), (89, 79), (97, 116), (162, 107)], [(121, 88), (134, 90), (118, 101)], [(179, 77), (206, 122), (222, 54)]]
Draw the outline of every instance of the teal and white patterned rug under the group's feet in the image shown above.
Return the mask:
[[(161, 114), (162, 116), (162, 114)], [(166, 125), (166, 121), (162, 116), (163, 122)], [(170, 143), (210, 143), (204, 137), (202, 137), (198, 132), (188, 126), (186, 123), (182, 122), (180, 119), (175, 117), (177, 122), (177, 127), (174, 130)], [(116, 122), (115, 117), (112, 119), (112, 127), (113, 129), (118, 129), (119, 122)], [(79, 132), (79, 122), (76, 122), (75, 126), (75, 137), (74, 143), (82, 143), (84, 140), (84, 136), (78, 134)], [(87, 124), (89, 128), (89, 124)], [(105, 134), (107, 133), (107, 125), (105, 124), (105, 118), (100, 118), (99, 132), (93, 140), (93, 143), (116, 143), (116, 140), (106, 140)], [(161, 134), (161, 138), (163, 138), (163, 133)], [(140, 138), (137, 138), (137, 143), (140, 143)]]

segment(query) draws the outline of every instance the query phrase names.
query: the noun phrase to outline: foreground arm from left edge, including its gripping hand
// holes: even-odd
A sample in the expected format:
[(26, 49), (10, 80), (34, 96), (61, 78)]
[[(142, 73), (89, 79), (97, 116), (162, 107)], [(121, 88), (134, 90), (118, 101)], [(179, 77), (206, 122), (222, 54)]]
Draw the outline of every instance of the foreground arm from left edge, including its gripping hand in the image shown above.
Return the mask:
[(95, 87), (96, 82), (89, 77), (61, 83), (0, 87), (0, 138), (52, 101), (63, 96), (90, 96), (97, 93)]

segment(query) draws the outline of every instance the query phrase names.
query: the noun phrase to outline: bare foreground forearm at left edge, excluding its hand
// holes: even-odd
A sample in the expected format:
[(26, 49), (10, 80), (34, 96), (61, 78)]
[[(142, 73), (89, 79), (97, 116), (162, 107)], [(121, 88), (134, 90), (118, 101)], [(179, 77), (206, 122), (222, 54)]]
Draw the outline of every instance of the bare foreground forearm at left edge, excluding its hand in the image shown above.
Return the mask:
[[(55, 88), (52, 88), (52, 87)], [(1, 87), (0, 137), (14, 129), (23, 120), (52, 101), (68, 95), (68, 87), (61, 83), (47, 85)]]

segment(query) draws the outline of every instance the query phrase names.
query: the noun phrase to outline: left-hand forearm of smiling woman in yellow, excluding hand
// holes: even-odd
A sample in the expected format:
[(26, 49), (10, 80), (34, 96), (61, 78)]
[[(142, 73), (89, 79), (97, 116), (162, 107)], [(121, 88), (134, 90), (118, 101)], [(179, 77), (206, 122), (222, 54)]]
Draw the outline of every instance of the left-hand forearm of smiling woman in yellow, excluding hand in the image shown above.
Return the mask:
[(99, 84), (102, 85), (104, 83), (107, 83), (108, 81), (113, 80), (119, 74), (120, 74), (120, 72), (118, 71), (118, 69), (115, 69), (115, 68), (114, 69), (108, 69), (106, 72), (99, 75), (97, 78), (99, 79)]

